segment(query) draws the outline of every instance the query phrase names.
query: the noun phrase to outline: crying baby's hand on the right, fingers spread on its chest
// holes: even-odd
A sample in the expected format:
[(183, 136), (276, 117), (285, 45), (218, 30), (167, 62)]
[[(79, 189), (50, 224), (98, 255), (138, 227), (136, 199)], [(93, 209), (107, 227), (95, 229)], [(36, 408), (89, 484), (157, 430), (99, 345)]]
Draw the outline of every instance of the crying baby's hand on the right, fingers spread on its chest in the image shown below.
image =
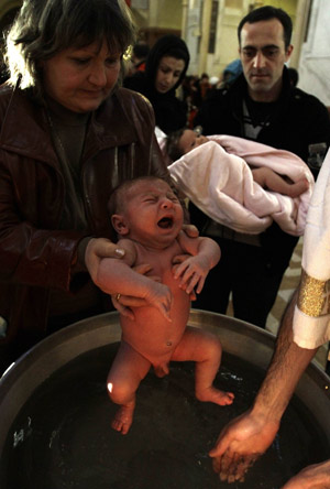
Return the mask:
[(196, 292), (199, 294), (204, 287), (205, 279), (209, 272), (209, 263), (206, 258), (190, 257), (176, 267), (174, 278), (179, 279), (179, 286), (187, 294), (190, 294), (197, 285)]

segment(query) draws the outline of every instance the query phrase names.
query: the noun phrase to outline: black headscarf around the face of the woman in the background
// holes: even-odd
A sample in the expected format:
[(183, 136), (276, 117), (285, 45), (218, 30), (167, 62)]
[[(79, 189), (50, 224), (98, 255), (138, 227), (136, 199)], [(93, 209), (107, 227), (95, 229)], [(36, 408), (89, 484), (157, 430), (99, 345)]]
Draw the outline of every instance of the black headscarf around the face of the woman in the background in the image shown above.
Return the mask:
[[(172, 56), (185, 62), (185, 67), (175, 86), (166, 94), (161, 94), (155, 89), (155, 78), (160, 61), (164, 56)], [(156, 126), (166, 134), (186, 126), (187, 106), (175, 96), (176, 88), (183, 83), (188, 69), (190, 56), (185, 41), (174, 34), (167, 34), (158, 39), (151, 48), (145, 63), (145, 72), (138, 72), (124, 80), (124, 86), (132, 90), (140, 91), (151, 101)]]

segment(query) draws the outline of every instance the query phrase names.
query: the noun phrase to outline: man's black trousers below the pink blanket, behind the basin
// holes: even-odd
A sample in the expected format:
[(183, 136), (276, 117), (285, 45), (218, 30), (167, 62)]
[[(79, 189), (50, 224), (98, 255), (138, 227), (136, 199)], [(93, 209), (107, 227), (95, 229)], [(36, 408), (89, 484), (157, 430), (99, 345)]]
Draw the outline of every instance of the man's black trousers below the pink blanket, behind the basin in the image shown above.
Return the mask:
[(288, 235), (278, 241), (276, 236), (277, 230), (274, 241), (268, 236), (261, 247), (212, 237), (221, 259), (193, 307), (226, 314), (232, 293), (234, 317), (264, 328), (298, 241)]

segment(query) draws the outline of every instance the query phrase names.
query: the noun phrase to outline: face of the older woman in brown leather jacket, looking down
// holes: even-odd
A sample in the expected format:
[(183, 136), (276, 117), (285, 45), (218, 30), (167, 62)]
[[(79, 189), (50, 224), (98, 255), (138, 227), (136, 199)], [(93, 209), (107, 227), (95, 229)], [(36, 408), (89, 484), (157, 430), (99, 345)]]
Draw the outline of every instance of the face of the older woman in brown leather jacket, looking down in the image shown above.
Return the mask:
[(106, 41), (67, 48), (43, 62), (46, 94), (74, 112), (90, 112), (109, 97), (121, 67), (121, 53), (110, 53)]

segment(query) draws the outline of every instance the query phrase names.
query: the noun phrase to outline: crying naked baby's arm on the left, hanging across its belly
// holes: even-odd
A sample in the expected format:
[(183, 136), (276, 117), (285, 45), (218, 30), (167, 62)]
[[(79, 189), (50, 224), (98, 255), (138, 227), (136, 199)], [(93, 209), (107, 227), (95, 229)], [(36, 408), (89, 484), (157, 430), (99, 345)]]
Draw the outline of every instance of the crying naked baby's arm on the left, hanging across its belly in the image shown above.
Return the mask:
[(166, 319), (170, 320), (172, 293), (167, 285), (132, 269), (136, 260), (136, 249), (132, 241), (123, 239), (118, 246), (125, 250), (124, 257), (105, 258), (98, 270), (98, 280), (101, 283), (107, 278), (107, 289), (103, 287), (103, 291), (110, 295), (121, 294), (144, 298), (147, 304), (156, 307)]

